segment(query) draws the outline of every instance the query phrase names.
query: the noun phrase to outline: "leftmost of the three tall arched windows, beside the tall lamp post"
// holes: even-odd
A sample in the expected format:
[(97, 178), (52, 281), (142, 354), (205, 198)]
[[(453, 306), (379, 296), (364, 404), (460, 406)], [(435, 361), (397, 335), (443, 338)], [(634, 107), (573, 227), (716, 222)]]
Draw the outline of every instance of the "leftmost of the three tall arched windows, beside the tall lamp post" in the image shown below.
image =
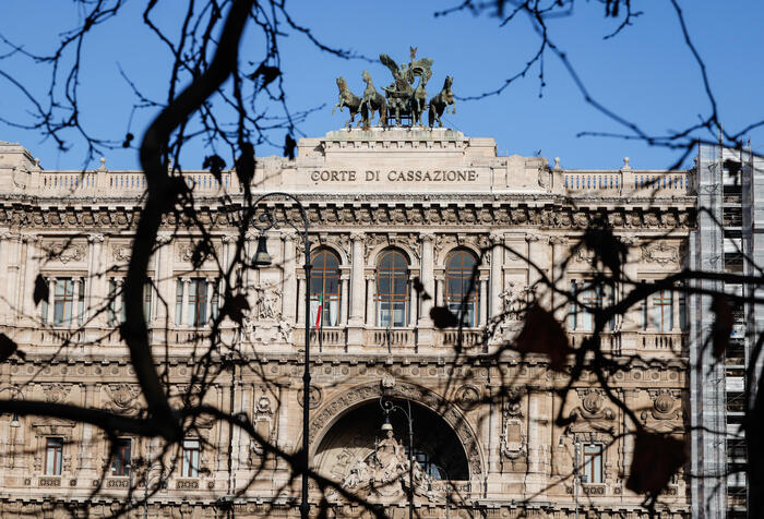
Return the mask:
[(339, 324), (339, 258), (332, 251), (313, 254), (310, 276), (310, 322), (315, 327)]

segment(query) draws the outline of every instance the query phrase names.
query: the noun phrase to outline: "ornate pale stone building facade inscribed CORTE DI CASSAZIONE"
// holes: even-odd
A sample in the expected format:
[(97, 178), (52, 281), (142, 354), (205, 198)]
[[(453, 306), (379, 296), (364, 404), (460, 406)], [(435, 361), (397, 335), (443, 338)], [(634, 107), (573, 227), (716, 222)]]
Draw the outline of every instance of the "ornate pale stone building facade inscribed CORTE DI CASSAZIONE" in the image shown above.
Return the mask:
[[(452, 130), (330, 132), (302, 138), (298, 152), (295, 160), (260, 158), (253, 193), (288, 192), (307, 208), (315, 302), (302, 304), (299, 234), (270, 230), (272, 266), (246, 274), (251, 312), (242, 326), (226, 321), (222, 328), (222, 340), (249, 363), (216, 378), (205, 401), (246, 412), (263, 437), (296, 451), (302, 323), (306, 312), (318, 321), (320, 299), (309, 438), (322, 474), (404, 517), (407, 488), (396, 479), (407, 446), (403, 408), (413, 418), (419, 517), (572, 518), (576, 509), (585, 517), (646, 517), (643, 496), (625, 488), (633, 427), (596, 382), (585, 375), (576, 384), (565, 406), (580, 420), (559, 427), (554, 390), (565, 377), (542, 355), (491, 353), (522, 327), (520, 310), (530, 297), (557, 309), (574, 347), (590, 331), (585, 309), (562, 304), (552, 290), (532, 293), (542, 276), (565, 290), (580, 287), (590, 304), (623, 295), (623, 287), (586, 289), (592, 257), (573, 245), (595, 218), (607, 218), (630, 245), (624, 268), (632, 279), (681, 269), (694, 221), (693, 171), (636, 170), (628, 158), (613, 170), (566, 170), (541, 157), (498, 156), (493, 140)], [(206, 171), (184, 174), (225, 265), (236, 224), (220, 194), (241, 201), (237, 177), (226, 171), (218, 182)], [(116, 331), (121, 303), (110, 295), (126, 275), (144, 189), (139, 171), (112, 171), (105, 162), (84, 173), (48, 171), (22, 146), (0, 144), (0, 326), (26, 352), (24, 362), (0, 364), (0, 391), (14, 388), (2, 397), (21, 393), (141, 412)], [(267, 204), (276, 214), (297, 215), (287, 200)], [(199, 234), (177, 224), (171, 215), (164, 221), (148, 273), (155, 288), (146, 290), (144, 307), (157, 359), (182, 394), (196, 362), (194, 337), (222, 301), (217, 265), (207, 258), (192, 266)], [(256, 241), (252, 236), (250, 254)], [(459, 339), (455, 328), (433, 325), (430, 309), (459, 307), (475, 264), (476, 290), (463, 306)], [(38, 275), (50, 295), (35, 304)], [(432, 299), (414, 288), (415, 278)], [(645, 425), (662, 432), (681, 431), (688, 419), (684, 307), (679, 291), (659, 293), (619, 316), (602, 338), (617, 359), (640, 355), (612, 384)], [(502, 314), (486, 342), (482, 330)], [(396, 408), (381, 429), (384, 401)], [(103, 431), (48, 418), (5, 414), (0, 431), (3, 517), (68, 517), (67, 509), (77, 507), (108, 515), (126, 498), (142, 497), (141, 487), (126, 497), (134, 485), (131, 469), (138, 470), (132, 464), (160, 449), (156, 440), (120, 436), (122, 454), (115, 457)], [(132, 515), (226, 517), (220, 504), (232, 503), (236, 517), (298, 516), (299, 484), (290, 483), (283, 460), (225, 423), (196, 431), (182, 452), (166, 455), (175, 460), (171, 472), (150, 473), (150, 482), (164, 478), (166, 488)], [(572, 475), (574, 456), (585, 481)], [(103, 488), (92, 495), (105, 471)], [(374, 486), (382, 480), (393, 483)], [(683, 474), (675, 478), (659, 500), (661, 517), (689, 517), (689, 488)], [(317, 505), (319, 491), (311, 492)], [(338, 517), (359, 510), (336, 492), (327, 499)]]

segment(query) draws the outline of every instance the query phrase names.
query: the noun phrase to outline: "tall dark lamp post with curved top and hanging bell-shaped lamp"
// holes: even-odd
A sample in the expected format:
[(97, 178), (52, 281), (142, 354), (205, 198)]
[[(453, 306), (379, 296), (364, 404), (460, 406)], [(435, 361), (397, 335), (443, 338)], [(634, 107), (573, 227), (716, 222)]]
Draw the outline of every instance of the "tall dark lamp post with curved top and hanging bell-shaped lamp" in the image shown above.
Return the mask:
[[(280, 191), (274, 191), (272, 193), (265, 193), (254, 201), (252, 207), (256, 207), (263, 200), (268, 197), (285, 197), (291, 200), (297, 207), (300, 209), (300, 216), (302, 217), (303, 228), (298, 228), (291, 221), (286, 221), (297, 232), (302, 234), (302, 243), (305, 245), (305, 264), (302, 268), (306, 273), (306, 298), (305, 298), (305, 317), (306, 317), (306, 359), (305, 359), (305, 370), (302, 372), (302, 496), (300, 500), (300, 517), (302, 519), (308, 519), (308, 512), (310, 511), (310, 504), (308, 503), (308, 422), (310, 420), (310, 270), (312, 265), (310, 263), (310, 240), (308, 234), (308, 215), (306, 213), (305, 206), (300, 203), (297, 196), (284, 193)], [(278, 228), (278, 221), (273, 217), (271, 213), (264, 213), (260, 216), (260, 221), (264, 225), (258, 225), (254, 219), (252, 225), (255, 229), (260, 231), (258, 237), (258, 250), (252, 258), (252, 266), (254, 268), (267, 267), (271, 265), (271, 255), (267, 252), (267, 240), (265, 239), (265, 231), (271, 228)]]

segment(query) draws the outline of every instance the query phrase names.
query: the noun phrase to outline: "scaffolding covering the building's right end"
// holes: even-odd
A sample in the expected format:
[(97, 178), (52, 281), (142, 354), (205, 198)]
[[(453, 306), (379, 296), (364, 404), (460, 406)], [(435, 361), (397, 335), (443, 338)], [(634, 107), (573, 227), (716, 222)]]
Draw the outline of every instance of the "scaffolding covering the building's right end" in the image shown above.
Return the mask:
[[(691, 268), (752, 275), (754, 264), (764, 265), (763, 166), (750, 148), (699, 147), (697, 229), (690, 236)], [(743, 299), (754, 295), (754, 288), (747, 285), (702, 280), (695, 287)], [(740, 424), (749, 395), (745, 370), (751, 345), (756, 329), (764, 325), (764, 315), (751, 304), (735, 305), (725, 361), (715, 362), (711, 348), (705, 347), (714, 319), (709, 306), (709, 295), (694, 295), (690, 303), (692, 510), (695, 518), (744, 518), (748, 449)]]

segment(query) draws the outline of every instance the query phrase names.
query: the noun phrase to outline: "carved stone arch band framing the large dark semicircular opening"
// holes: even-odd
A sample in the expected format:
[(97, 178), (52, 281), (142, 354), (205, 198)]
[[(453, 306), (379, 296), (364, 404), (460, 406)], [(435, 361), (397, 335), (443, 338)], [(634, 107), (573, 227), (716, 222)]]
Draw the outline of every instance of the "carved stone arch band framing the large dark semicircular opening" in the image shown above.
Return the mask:
[(466, 417), (454, 403), (434, 391), (416, 384), (395, 382), (391, 387), (386, 383), (387, 381), (384, 384), (386, 387), (383, 387), (382, 381), (354, 386), (342, 395), (329, 400), (314, 412), (308, 429), (311, 459), (313, 459), (322, 438), (342, 417), (360, 406), (379, 400), (380, 397), (384, 396), (385, 398), (408, 399), (422, 408), (438, 413), (461, 443), (467, 458), (470, 479), (485, 473), (485, 457), (478, 436), (467, 422)]

